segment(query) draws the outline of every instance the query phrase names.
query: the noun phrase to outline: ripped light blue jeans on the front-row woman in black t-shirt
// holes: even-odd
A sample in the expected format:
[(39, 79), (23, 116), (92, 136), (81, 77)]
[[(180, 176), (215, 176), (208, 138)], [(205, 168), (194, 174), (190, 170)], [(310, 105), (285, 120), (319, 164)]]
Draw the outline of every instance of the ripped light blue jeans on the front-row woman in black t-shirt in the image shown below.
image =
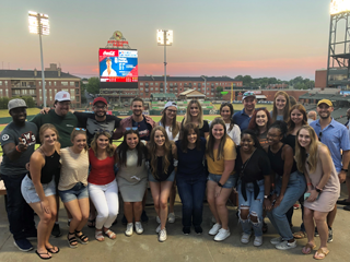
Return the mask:
[[(256, 237), (262, 236), (262, 203), (264, 203), (264, 193), (265, 193), (265, 186), (264, 186), (264, 179), (257, 181), (257, 184), (259, 186), (259, 194), (256, 199), (254, 199), (254, 184), (253, 183), (246, 183), (245, 184), (245, 191), (247, 195), (247, 200), (243, 198), (242, 194), (242, 182), (238, 181), (237, 191), (238, 191), (238, 200), (240, 200), (240, 222), (242, 225), (242, 230), (245, 234), (250, 235), (252, 234), (252, 227), (254, 230), (254, 235)], [(247, 206), (249, 210), (248, 219), (242, 219), (241, 217), (241, 209), (244, 210)], [(250, 216), (257, 216), (258, 222), (254, 223), (249, 218)]]

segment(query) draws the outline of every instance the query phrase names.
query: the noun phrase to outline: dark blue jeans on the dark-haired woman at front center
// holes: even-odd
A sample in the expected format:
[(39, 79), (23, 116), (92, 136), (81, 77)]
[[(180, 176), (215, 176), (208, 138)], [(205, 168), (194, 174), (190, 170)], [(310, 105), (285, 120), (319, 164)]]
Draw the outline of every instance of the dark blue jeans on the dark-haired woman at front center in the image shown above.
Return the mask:
[(183, 203), (183, 226), (200, 226), (202, 223), (203, 199), (206, 194), (206, 176), (176, 176), (178, 195)]

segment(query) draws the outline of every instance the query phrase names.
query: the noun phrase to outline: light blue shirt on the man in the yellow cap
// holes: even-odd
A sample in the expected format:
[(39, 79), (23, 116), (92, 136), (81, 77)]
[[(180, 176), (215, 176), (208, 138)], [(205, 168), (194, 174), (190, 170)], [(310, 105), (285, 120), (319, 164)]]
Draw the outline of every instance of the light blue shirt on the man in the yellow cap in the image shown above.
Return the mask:
[[(320, 138), (320, 142), (328, 146), (337, 172), (340, 172), (342, 168), (340, 150), (350, 150), (348, 129), (334, 119), (331, 119), (330, 123), (324, 128), (324, 130), (320, 129), (319, 119), (311, 122), (310, 126), (315, 130), (318, 138)], [(320, 133), (322, 135), (319, 135)]]

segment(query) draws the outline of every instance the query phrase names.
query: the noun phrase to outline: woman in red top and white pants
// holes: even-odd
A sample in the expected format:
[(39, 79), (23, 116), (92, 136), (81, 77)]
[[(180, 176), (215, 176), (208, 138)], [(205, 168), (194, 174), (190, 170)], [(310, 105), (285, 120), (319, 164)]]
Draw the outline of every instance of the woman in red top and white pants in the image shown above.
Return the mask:
[(103, 233), (110, 239), (116, 238), (109, 227), (119, 212), (118, 186), (114, 172), (116, 147), (109, 139), (107, 130), (96, 132), (89, 150), (89, 194), (98, 213), (95, 226), (95, 238), (98, 241), (104, 240)]

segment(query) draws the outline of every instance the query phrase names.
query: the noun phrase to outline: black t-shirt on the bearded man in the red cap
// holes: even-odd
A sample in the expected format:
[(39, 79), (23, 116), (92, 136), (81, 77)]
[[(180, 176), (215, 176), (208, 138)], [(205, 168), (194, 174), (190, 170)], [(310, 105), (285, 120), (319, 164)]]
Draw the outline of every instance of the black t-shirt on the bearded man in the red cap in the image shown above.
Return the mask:
[(80, 128), (86, 129), (86, 134), (88, 134), (88, 144), (91, 144), (91, 141), (93, 140), (95, 133), (102, 129), (102, 130), (108, 130), (110, 133), (110, 141), (112, 141), (112, 135), (115, 129), (119, 128), (121, 119), (112, 116), (112, 115), (106, 115), (106, 119), (104, 121), (97, 121), (95, 119), (95, 114), (94, 112), (78, 112), (74, 111), (74, 116), (78, 118), (78, 126)]

